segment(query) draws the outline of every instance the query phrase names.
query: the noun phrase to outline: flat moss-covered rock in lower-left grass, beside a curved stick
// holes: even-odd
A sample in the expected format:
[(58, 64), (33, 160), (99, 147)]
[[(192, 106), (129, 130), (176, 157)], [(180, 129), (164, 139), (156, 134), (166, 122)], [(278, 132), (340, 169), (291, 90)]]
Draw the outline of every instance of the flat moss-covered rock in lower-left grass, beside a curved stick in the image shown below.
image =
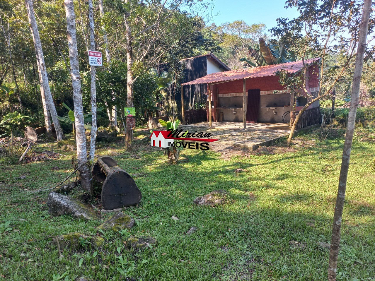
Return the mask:
[[(104, 239), (99, 236), (87, 236), (82, 233), (69, 233), (57, 237), (61, 249), (80, 250), (91, 246), (92, 248), (101, 247)], [(52, 244), (57, 245), (56, 238), (52, 240)]]

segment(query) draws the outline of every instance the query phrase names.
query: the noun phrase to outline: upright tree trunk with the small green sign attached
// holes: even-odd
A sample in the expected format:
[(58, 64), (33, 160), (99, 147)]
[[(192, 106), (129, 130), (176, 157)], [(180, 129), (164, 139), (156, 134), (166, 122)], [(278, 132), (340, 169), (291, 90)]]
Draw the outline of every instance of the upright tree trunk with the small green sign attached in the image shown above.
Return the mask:
[[(132, 47), (132, 32), (130, 30), (129, 22), (127, 21), (127, 17), (129, 14), (124, 14), (124, 21), (125, 21), (125, 28), (126, 28), (126, 64), (127, 64), (127, 83), (126, 83), (126, 90), (127, 90), (127, 107), (133, 107), (133, 71), (132, 71), (132, 64), (133, 64), (133, 47)], [(132, 128), (128, 122), (126, 122), (126, 149), (127, 151), (132, 150), (132, 141), (133, 141), (133, 132)]]

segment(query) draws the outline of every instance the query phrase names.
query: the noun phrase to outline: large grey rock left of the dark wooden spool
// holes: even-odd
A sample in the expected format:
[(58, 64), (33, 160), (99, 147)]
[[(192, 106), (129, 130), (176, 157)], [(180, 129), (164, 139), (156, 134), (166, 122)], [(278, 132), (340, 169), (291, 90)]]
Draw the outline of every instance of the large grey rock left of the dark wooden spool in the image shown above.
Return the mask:
[(83, 218), (85, 220), (99, 219), (98, 214), (89, 206), (82, 203), (80, 200), (73, 199), (69, 196), (59, 193), (49, 193), (48, 213), (54, 216), (71, 215), (74, 218)]

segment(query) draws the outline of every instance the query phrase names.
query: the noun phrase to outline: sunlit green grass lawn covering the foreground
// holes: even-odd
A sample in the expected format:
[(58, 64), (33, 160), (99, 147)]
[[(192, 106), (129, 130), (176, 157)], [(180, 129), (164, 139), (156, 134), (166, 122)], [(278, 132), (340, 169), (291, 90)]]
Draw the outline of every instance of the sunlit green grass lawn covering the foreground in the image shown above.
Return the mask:
[[(0, 166), (0, 281), (58, 280), (57, 274), (65, 274), (61, 280), (326, 280), (329, 250), (317, 243), (330, 241), (343, 137), (319, 141), (312, 132), (295, 143), (284, 153), (280, 148), (276, 154), (229, 158), (186, 149), (175, 165), (147, 146), (126, 152), (121, 141), (99, 145), (96, 154), (111, 155), (136, 174), (142, 192), (139, 207), (124, 211), (136, 225), (123, 233), (97, 232), (101, 221), (52, 217), (48, 194), (25, 196), (73, 171), (73, 152), (44, 145), (68, 156)], [(374, 143), (354, 142), (338, 280), (375, 280), (375, 174), (366, 167), (374, 155)], [(150, 163), (155, 164), (136, 169)], [(243, 171), (236, 173), (238, 168)], [(21, 175), (26, 179), (17, 179)], [(216, 189), (227, 190), (231, 201), (217, 208), (193, 205), (195, 197)], [(11, 230), (5, 232), (6, 221)], [(198, 230), (187, 236), (192, 226)], [(98, 233), (106, 244), (65, 251), (59, 259), (51, 239), (43, 238), (71, 232)], [(135, 234), (150, 234), (158, 245), (132, 253), (124, 241)], [(289, 241), (306, 247), (294, 248)]]

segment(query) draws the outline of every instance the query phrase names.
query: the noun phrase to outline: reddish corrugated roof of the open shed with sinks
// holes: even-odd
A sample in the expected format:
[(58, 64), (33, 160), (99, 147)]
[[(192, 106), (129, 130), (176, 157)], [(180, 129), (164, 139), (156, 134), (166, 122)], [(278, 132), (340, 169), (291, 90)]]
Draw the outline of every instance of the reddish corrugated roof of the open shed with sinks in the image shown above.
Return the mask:
[[(320, 58), (312, 58), (306, 60), (306, 64), (312, 64), (315, 61), (320, 60)], [(259, 67), (248, 67), (237, 70), (229, 70), (223, 72), (216, 72), (201, 78), (195, 79), (190, 82), (183, 83), (181, 85), (192, 85), (192, 84), (206, 84), (206, 83), (216, 83), (224, 81), (241, 80), (248, 78), (264, 77), (264, 76), (275, 76), (276, 71), (286, 70), (289, 73), (296, 73), (303, 68), (303, 62), (291, 61), (290, 63), (273, 64), (269, 66), (259, 66)]]

